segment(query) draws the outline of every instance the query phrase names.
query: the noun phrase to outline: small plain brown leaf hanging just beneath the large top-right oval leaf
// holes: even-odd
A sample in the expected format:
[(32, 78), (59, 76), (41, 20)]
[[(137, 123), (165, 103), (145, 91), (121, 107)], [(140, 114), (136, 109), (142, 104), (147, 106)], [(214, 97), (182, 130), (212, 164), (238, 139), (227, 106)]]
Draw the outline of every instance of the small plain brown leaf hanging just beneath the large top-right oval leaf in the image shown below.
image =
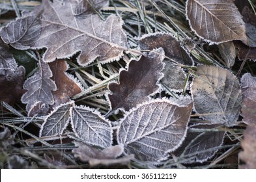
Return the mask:
[(227, 68), (231, 68), (236, 60), (236, 47), (233, 42), (223, 42), (218, 45), (222, 59), (225, 61)]

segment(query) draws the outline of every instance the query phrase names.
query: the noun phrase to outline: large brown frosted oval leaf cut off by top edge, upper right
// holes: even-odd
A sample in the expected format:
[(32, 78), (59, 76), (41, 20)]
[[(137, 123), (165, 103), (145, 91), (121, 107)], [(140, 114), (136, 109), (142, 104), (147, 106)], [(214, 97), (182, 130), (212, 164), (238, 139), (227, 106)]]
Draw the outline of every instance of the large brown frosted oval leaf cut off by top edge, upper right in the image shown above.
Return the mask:
[(248, 43), (245, 23), (233, 0), (188, 0), (186, 16), (191, 29), (212, 44)]

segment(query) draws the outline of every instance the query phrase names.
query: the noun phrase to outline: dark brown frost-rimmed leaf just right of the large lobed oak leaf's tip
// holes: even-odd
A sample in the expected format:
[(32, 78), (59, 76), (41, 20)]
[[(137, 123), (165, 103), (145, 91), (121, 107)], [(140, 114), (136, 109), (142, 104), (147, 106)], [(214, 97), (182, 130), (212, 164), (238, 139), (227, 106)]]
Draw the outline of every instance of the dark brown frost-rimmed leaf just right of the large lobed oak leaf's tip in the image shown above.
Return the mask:
[(168, 33), (145, 34), (139, 40), (139, 47), (142, 50), (152, 50), (162, 47), (164, 49), (165, 56), (169, 59), (175, 60), (180, 64), (193, 64), (192, 57), (188, 55), (185, 49), (180, 45), (180, 42)]

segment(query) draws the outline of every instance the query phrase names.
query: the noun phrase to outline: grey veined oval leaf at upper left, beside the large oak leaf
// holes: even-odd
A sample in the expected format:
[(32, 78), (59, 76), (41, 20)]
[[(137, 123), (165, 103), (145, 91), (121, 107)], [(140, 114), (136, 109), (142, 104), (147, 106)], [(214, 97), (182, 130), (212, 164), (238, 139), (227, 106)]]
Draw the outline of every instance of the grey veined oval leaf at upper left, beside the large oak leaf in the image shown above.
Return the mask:
[(8, 23), (0, 31), (3, 41), (16, 49), (29, 49), (40, 36), (40, 15), (25, 16)]

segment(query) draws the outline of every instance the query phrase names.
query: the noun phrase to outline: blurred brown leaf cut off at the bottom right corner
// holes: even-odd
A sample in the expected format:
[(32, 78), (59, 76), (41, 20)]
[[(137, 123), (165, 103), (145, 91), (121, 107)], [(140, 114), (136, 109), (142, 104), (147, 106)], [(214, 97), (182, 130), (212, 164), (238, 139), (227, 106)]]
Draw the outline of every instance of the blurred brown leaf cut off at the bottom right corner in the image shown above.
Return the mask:
[(244, 140), (241, 142), (244, 151), (240, 151), (239, 157), (246, 164), (239, 165), (242, 169), (256, 169), (256, 125), (248, 125), (244, 131)]

